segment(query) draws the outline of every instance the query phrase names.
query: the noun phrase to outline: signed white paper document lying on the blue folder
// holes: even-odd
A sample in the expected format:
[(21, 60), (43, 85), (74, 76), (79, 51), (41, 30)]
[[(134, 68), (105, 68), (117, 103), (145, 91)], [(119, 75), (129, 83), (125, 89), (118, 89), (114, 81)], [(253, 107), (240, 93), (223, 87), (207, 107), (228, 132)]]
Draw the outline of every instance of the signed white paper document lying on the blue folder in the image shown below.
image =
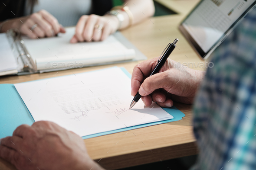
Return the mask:
[(35, 121), (46, 120), (78, 135), (92, 135), (173, 119), (156, 103), (129, 110), (131, 79), (119, 68), (14, 84)]

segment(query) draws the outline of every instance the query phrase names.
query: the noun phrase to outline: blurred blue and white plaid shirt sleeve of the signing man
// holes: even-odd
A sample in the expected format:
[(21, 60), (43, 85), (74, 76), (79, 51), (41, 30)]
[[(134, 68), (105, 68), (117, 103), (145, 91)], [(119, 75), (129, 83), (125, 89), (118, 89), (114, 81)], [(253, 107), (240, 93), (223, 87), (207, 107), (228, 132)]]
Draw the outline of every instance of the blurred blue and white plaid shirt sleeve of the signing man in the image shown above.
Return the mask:
[(212, 58), (194, 103), (191, 170), (256, 170), (256, 10)]

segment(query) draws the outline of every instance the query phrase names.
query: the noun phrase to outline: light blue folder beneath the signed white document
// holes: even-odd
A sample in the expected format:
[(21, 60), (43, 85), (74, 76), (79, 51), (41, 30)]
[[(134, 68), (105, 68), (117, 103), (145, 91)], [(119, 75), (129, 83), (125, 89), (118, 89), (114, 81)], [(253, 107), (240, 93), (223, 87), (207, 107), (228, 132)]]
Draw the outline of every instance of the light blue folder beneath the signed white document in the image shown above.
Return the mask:
[[(121, 70), (131, 79), (131, 74), (124, 67)], [(107, 68), (108, 69), (108, 68)], [(93, 135), (83, 136), (83, 139), (108, 135), (117, 132), (128, 131), (136, 128), (144, 128), (147, 126), (158, 125), (167, 122), (174, 122), (181, 120), (185, 114), (178, 110), (175, 106), (171, 108), (163, 108), (166, 112), (171, 114), (174, 118), (159, 122), (146, 123), (143, 125), (136, 125), (134, 127), (121, 128), (113, 131), (97, 133)], [(0, 84), (0, 138), (11, 136), (13, 131), (22, 124), (32, 125), (34, 119), (27, 109), (25, 103), (21, 99), (19, 93), (13, 84)]]

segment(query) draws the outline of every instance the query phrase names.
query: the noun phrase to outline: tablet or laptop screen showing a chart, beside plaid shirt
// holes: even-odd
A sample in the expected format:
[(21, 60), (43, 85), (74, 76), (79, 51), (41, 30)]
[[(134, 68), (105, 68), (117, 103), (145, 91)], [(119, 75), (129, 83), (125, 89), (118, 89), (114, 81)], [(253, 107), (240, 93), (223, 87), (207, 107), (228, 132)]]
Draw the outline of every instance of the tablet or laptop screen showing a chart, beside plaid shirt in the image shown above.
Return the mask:
[(203, 60), (256, 7), (256, 0), (201, 0), (179, 30)]

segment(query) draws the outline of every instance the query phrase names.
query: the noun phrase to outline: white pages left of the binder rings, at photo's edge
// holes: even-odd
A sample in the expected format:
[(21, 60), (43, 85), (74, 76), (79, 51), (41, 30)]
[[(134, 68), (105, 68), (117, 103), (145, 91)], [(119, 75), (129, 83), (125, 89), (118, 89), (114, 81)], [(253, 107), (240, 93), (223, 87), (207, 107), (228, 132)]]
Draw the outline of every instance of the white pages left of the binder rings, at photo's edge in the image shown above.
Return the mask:
[[(0, 72), (17, 73), (17, 63), (7, 39), (6, 33), (0, 34)], [(8, 72), (7, 72), (8, 71)], [(1, 75), (1, 74), (0, 74)], [(3, 74), (4, 75), (4, 74)]]

